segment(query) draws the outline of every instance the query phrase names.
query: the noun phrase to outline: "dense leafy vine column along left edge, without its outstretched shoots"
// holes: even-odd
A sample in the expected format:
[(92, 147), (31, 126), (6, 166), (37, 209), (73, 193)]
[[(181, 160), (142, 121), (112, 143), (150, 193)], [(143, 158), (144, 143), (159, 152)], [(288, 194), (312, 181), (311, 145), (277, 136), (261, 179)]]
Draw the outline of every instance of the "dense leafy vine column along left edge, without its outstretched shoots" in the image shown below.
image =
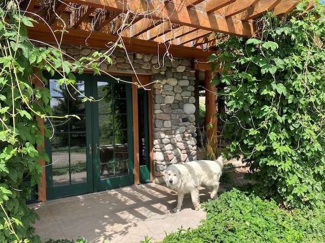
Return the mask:
[(24, 26), (31, 26), (32, 20), (14, 11), (14, 2), (8, 2), (7, 9), (12, 12), (0, 8), (0, 242), (40, 242), (30, 226), (38, 216), (26, 205), (31, 196), (27, 181), (31, 186), (39, 183), (43, 169), (38, 160), (48, 160), (35, 148), (44, 139), (35, 114), (49, 111), (50, 95), (32, 86), (34, 48)]

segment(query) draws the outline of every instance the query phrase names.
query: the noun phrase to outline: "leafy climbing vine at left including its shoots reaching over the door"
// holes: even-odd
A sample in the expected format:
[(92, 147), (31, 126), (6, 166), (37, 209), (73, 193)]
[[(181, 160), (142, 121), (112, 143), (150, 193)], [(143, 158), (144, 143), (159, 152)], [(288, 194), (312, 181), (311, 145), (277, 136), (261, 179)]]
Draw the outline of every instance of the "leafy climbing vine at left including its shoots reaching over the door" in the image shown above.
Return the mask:
[[(32, 27), (35, 20), (24, 16), (18, 4), (8, 1), (0, 7), (0, 242), (37, 243), (40, 237), (34, 235), (31, 223), (39, 217), (26, 205), (31, 196), (28, 184), (40, 183), (43, 168), (39, 161), (49, 161), (44, 149), (36, 149), (44, 141), (39, 118), (53, 118), (49, 105), (51, 95), (42, 71), (59, 73), (61, 78), (57, 84), (69, 87), (78, 97), (83, 94), (73, 90), (76, 78), (72, 72), (82, 73), (84, 68), (92, 69), (95, 74), (100, 71), (93, 58), (63, 61), (59, 48), (32, 45), (25, 26)], [(111, 61), (106, 54), (95, 55)], [(42, 88), (34, 86), (39, 79), (37, 71), (44, 82)], [(79, 118), (74, 114), (60, 115), (63, 116), (55, 118)], [(46, 127), (43, 129), (45, 136), (51, 136)]]

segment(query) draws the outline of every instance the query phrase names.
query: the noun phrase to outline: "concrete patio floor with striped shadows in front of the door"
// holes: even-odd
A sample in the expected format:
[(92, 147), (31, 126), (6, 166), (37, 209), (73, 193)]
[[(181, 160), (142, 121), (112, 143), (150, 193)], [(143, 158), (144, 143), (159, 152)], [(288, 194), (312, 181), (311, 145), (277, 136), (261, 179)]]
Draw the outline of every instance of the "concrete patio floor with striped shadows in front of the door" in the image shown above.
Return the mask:
[[(209, 191), (203, 188), (200, 194), (201, 200), (207, 201)], [(202, 209), (194, 211), (189, 195), (184, 198), (182, 211), (174, 213), (176, 200), (177, 193), (165, 185), (148, 183), (29, 207), (41, 218), (34, 227), (42, 241), (85, 237), (92, 243), (132, 243), (148, 235), (156, 242), (178, 228), (196, 228), (206, 217)]]

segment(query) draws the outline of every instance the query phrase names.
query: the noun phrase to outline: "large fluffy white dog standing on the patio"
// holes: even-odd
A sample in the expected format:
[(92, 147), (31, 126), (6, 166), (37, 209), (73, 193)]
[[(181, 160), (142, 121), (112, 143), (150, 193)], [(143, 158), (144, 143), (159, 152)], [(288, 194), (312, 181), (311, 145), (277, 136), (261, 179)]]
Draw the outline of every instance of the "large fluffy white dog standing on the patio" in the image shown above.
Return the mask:
[(182, 207), (184, 194), (190, 193), (195, 210), (200, 209), (199, 187), (206, 186), (211, 191), (211, 199), (218, 197), (219, 179), (222, 174), (223, 158), (217, 160), (194, 160), (185, 164), (170, 165), (165, 171), (165, 182), (172, 190), (177, 191), (177, 207)]

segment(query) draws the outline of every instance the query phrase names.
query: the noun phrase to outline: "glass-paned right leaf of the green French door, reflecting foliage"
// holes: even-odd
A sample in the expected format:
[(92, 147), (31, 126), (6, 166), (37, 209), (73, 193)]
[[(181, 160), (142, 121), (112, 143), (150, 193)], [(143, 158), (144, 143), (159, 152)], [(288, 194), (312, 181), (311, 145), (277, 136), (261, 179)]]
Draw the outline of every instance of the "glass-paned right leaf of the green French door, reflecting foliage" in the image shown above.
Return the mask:
[(94, 171), (95, 190), (132, 184), (133, 163), (129, 163), (129, 158), (133, 157), (133, 149), (130, 149), (133, 145), (129, 146), (132, 141), (129, 139), (129, 133), (132, 134), (131, 86), (105, 82), (98, 76), (93, 80), (96, 80), (93, 89), (96, 89), (99, 100), (93, 109), (97, 113), (93, 117), (98, 117), (94, 128), (99, 137), (94, 140), (99, 141), (95, 146), (100, 155), (96, 167), (99, 169)]

